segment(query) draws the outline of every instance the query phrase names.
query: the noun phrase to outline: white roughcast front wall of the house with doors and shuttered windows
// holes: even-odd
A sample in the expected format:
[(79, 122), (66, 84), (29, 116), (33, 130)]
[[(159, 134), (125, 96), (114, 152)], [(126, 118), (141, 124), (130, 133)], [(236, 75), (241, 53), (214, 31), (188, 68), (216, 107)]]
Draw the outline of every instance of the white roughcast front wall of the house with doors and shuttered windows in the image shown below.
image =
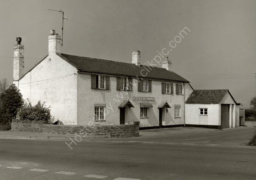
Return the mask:
[[(130, 100), (135, 107), (125, 107), (125, 123), (128, 121), (140, 121), (140, 127), (159, 126), (159, 109), (157, 108), (162, 101), (167, 101), (171, 108), (163, 116), (163, 125), (175, 125), (184, 123), (184, 95), (167, 95), (161, 93), (161, 82), (152, 81), (152, 92), (138, 92), (138, 87), (133, 86), (132, 91), (126, 92), (116, 90), (116, 77), (110, 77), (110, 90), (94, 90), (91, 89), (90, 74), (78, 74), (78, 124), (87, 125), (90, 121), (94, 122), (94, 104), (106, 104), (106, 121), (101, 121), (100, 124), (119, 124), (119, 104), (124, 100)], [(187, 88), (187, 84), (185, 85)], [(188, 92), (188, 90), (184, 90)], [(121, 95), (122, 93), (122, 95)], [(175, 83), (174, 83), (175, 93)], [(119, 100), (117, 98), (119, 97)], [(123, 96), (123, 98), (122, 98)], [(133, 97), (155, 97), (155, 101), (133, 101)], [(149, 118), (140, 118), (140, 102), (148, 102), (153, 104), (153, 108), (148, 109)], [(180, 118), (174, 118), (175, 104), (181, 106)], [(112, 109), (112, 110), (111, 110)]]

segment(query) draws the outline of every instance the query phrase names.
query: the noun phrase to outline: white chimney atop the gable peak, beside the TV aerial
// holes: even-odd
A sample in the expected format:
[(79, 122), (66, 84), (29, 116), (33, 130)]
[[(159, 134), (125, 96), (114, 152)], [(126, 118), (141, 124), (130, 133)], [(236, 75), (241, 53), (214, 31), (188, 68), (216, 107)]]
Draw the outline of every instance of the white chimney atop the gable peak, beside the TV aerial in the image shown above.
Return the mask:
[(48, 49), (49, 55), (61, 53), (61, 37), (55, 33), (55, 30), (50, 31), (50, 35), (48, 37)]

